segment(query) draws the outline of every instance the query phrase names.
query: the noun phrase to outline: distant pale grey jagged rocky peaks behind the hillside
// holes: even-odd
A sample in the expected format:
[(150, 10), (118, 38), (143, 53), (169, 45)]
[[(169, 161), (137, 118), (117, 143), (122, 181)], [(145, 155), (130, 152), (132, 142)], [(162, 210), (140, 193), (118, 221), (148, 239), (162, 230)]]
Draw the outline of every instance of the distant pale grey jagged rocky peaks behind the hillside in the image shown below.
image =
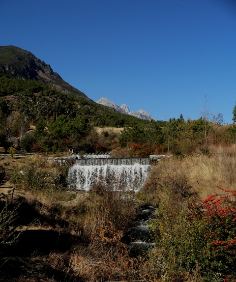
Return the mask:
[(99, 99), (96, 103), (106, 106), (106, 107), (110, 107), (112, 109), (114, 109), (115, 111), (119, 112), (119, 113), (126, 113), (135, 117), (138, 117), (140, 119), (145, 119), (145, 120), (151, 120), (154, 119), (151, 117), (151, 115), (144, 111), (144, 110), (139, 110), (137, 112), (133, 112), (130, 111), (128, 106), (126, 104), (122, 104), (120, 107), (117, 106), (116, 103), (109, 101), (107, 98), (101, 98)]

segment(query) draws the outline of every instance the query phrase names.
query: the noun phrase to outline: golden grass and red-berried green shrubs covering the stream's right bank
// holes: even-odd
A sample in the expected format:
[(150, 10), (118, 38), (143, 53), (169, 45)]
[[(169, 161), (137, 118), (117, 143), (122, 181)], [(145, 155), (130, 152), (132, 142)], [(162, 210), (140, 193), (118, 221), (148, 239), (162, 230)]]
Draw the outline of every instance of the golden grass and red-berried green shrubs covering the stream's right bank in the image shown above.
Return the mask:
[(235, 146), (216, 148), (152, 170), (139, 194), (157, 206), (148, 260), (157, 281), (236, 281), (235, 156)]

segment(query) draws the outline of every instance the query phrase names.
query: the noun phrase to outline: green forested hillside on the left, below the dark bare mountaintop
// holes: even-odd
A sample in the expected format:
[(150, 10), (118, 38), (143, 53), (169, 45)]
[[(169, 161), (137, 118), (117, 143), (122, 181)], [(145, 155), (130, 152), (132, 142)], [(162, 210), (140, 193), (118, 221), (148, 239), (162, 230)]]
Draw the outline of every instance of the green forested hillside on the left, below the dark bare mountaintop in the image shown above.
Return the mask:
[[(0, 78), (0, 115), (0, 146), (5, 151), (10, 146), (27, 152), (32, 149), (55, 152), (68, 148), (77, 152), (106, 151), (112, 148), (114, 140), (107, 134), (110, 141), (102, 140), (99, 144), (95, 126), (142, 130), (142, 127), (162, 124), (110, 111), (37, 81), (13, 78)], [(36, 130), (29, 133), (30, 126), (35, 126)]]

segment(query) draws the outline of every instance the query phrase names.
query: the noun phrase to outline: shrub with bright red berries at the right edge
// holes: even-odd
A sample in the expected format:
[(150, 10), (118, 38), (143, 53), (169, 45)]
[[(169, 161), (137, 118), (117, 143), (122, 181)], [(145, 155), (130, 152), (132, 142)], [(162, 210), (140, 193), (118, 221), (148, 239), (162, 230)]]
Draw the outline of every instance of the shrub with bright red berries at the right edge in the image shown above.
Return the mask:
[(219, 273), (229, 281), (230, 276), (236, 279), (236, 191), (217, 187), (227, 195), (215, 194), (200, 204), (190, 203), (189, 222), (202, 226), (200, 265), (206, 273)]

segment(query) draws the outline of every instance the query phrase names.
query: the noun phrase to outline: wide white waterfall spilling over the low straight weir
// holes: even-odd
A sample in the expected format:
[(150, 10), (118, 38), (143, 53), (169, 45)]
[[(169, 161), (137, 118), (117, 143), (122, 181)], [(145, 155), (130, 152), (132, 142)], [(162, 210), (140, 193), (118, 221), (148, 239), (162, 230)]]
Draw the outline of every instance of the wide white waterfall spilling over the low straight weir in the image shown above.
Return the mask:
[(98, 183), (112, 185), (113, 190), (139, 190), (148, 177), (149, 158), (77, 159), (68, 169), (68, 186), (90, 190)]

